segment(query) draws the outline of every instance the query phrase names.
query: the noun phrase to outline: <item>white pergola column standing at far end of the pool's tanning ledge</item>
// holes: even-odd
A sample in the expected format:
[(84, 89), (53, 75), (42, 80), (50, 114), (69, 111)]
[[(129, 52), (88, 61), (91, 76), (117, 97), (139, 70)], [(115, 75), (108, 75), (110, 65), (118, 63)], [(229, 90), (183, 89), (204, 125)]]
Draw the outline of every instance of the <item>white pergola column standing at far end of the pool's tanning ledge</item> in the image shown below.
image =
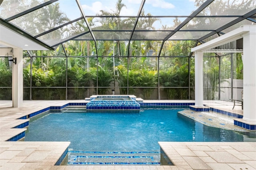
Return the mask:
[(195, 52), (195, 105), (203, 106), (203, 52)]

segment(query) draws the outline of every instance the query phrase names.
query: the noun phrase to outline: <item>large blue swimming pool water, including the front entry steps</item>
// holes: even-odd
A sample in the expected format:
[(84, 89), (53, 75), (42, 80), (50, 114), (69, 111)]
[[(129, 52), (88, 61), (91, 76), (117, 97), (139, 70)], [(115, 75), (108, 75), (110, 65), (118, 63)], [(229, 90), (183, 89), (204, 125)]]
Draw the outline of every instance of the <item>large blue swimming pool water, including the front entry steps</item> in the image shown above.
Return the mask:
[[(136, 163), (134, 154), (144, 162), (159, 164), (158, 141), (242, 142), (249, 138), (242, 132), (198, 123), (177, 113), (181, 110), (184, 109), (144, 108), (139, 113), (52, 112), (30, 121), (25, 141), (70, 141), (69, 164), (86, 161), (96, 164), (100, 158), (127, 162), (130, 157), (133, 160), (129, 161)], [(119, 156), (114, 152), (119, 152)], [(99, 153), (101, 156), (96, 155)]]

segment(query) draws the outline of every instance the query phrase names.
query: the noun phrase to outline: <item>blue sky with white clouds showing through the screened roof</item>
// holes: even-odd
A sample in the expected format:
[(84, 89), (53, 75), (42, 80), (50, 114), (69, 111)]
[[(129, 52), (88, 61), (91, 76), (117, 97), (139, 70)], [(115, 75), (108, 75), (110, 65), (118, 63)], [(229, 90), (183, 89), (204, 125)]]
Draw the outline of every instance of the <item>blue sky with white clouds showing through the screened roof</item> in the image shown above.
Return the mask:
[[(100, 10), (108, 12), (115, 11), (117, 0), (80, 0), (80, 4), (86, 16), (95, 16), (100, 13)], [(75, 0), (60, 0), (61, 10), (67, 16), (74, 20), (80, 17), (80, 11)], [(122, 0), (126, 7), (122, 8), (120, 16), (137, 16), (141, 5), (141, 0)], [(189, 16), (192, 11), (196, 10), (194, 0), (146, 0), (144, 4), (145, 14), (152, 16)], [(186, 18), (179, 18), (182, 22)], [(174, 18), (161, 18), (161, 21), (156, 21), (154, 27), (160, 29), (162, 25), (172, 26)]]

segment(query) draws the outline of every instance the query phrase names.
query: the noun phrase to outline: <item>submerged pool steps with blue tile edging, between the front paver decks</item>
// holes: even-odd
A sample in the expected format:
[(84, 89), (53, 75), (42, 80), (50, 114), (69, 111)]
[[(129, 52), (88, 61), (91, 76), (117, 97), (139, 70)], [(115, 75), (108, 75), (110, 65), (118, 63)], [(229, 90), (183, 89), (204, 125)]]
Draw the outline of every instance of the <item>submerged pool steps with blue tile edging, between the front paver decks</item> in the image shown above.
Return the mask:
[(68, 164), (160, 165), (160, 152), (81, 152), (68, 151)]

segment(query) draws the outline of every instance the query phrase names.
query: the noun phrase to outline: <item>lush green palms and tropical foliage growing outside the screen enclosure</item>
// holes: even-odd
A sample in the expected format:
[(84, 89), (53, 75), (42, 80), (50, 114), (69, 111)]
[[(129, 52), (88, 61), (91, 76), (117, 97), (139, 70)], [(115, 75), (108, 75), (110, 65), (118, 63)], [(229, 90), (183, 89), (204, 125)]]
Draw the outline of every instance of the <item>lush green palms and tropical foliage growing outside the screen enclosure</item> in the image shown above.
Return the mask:
[[(224, 10), (236, 9), (238, 11), (244, 11), (244, 9), (254, 8), (251, 5), (254, 1), (233, 3), (231, 1), (222, 2), (221, 0), (215, 0), (211, 6), (215, 7), (207, 9), (204, 15), (217, 15), (225, 13)], [(5, 9), (6, 13), (3, 13), (4, 18), (8, 18), (5, 15), (10, 11), (11, 1), (3, 1), (1, 7)], [(204, 3), (203, 0), (196, 0), (195, 5), (201, 6)], [(36, 6), (40, 4), (38, 0), (29, 2), (20, 1), (19, 8), (16, 12), (22, 12), (29, 9), (30, 6)], [(219, 8), (223, 7), (223, 8)], [(101, 10), (100, 16), (120, 16), (122, 9), (126, 8), (126, 5), (122, 3), (122, 0), (117, 0), (116, 8), (112, 11)], [(9, 10), (9, 11), (8, 11)], [(238, 12), (239, 13), (239, 12)], [(241, 12), (240, 12), (241, 13)], [(142, 10), (141, 17), (136, 23), (137, 29), (155, 30), (154, 24), (161, 22), (159, 18), (152, 18), (151, 14), (145, 14)], [(22, 17), (16, 18), (16, 22), (20, 23), (24, 28), (32, 30), (30, 34), (38, 35), (48, 31), (56, 26), (60, 26), (70, 21), (64, 12), (60, 10), (59, 3), (53, 3), (45, 8), (38, 9), (31, 13), (29, 20), (21, 20)], [(37, 18), (37, 20), (34, 20)], [(95, 18), (87, 18), (91, 28), (96, 30), (112, 30), (109, 40), (118, 40), (122, 36), (126, 37), (125, 32), (115, 30), (132, 30), (135, 22), (135, 18), (120, 18), (120, 17), (100, 17), (98, 20)], [(96, 26), (94, 22), (99, 22), (100, 26)], [(188, 27), (192, 30), (196, 30), (197, 26), (204, 26), (208, 28), (209, 23), (218, 23), (218, 18), (204, 18), (198, 20), (194, 19), (194, 22), (188, 24)], [(30, 25), (30, 24), (31, 25)], [(83, 32), (87, 32), (88, 28), (84, 20), (75, 22), (76, 24), (70, 24), (68, 28), (60, 28), (55, 30), (54, 34), (45, 34), (41, 38), (43, 39), (61, 39), (62, 35), (66, 35), (68, 32), (70, 36), (76, 36)], [(163, 30), (174, 30), (176, 26), (180, 25), (181, 21), (178, 18), (173, 20), (174, 26), (162, 26)], [(193, 24), (193, 25), (191, 25)], [(96, 28), (97, 27), (97, 28)], [(33, 28), (33, 29), (31, 29)], [(56, 34), (55, 34), (56, 33)], [(156, 36), (158, 33), (156, 32)], [(86, 88), (82, 87), (95, 87), (98, 85), (98, 94), (106, 94), (110, 89), (111, 83), (117, 79), (119, 87), (129, 86), (129, 94), (135, 93), (136, 88), (132, 87), (147, 87), (142, 90), (144, 99), (150, 99), (155, 87), (158, 85), (157, 69), (160, 69), (160, 85), (164, 88), (168, 99), (187, 99), (188, 98), (188, 83), (194, 87), (194, 59), (191, 59), (190, 63), (190, 80), (188, 75), (188, 57), (175, 57), (170, 56), (188, 56), (190, 54), (191, 47), (194, 47), (195, 41), (166, 41), (163, 45), (160, 56), (168, 56), (170, 58), (163, 58), (160, 60), (160, 67), (157, 66), (157, 57), (146, 57), (148, 50), (153, 50), (155, 56), (157, 56), (158, 45), (162, 42), (159, 41), (143, 41), (136, 40), (130, 42), (130, 46), (124, 41), (97, 41), (95, 44), (91, 37), (86, 37), (90, 34), (85, 34), (84, 38), (88, 41), (69, 41), (64, 43), (65, 49), (60, 45), (55, 51), (30, 51), (32, 57), (32, 91), (33, 99), (65, 99), (65, 88), (50, 88), (50, 87), (66, 87), (66, 72), (67, 72), (67, 86), (72, 87), (72, 95), (74, 99), (83, 99), (85, 96)], [(135, 35), (134, 35), (135, 36)], [(162, 35), (161, 35), (162, 36)], [(192, 37), (190, 33), (186, 33), (187, 37)], [(90, 41), (89, 41), (90, 40)], [(145, 38), (146, 40), (146, 38)], [(96, 56), (96, 47), (97, 55)], [(76, 57), (63, 57), (65, 55), (64, 50), (68, 56)], [(129, 57), (119, 58), (120, 56), (127, 56), (129, 51)], [(25, 53), (24, 56), (28, 56)], [(115, 57), (113, 60), (112, 56)], [(46, 56), (62, 56), (62, 57), (46, 57)], [(81, 57), (77, 57), (81, 56)], [(87, 56), (88, 58), (84, 57)], [(101, 57), (105, 56), (105, 57)], [(141, 56), (141, 57), (137, 57)], [(161, 57), (162, 58), (162, 57)], [(66, 59), (68, 61), (66, 62)], [(5, 59), (6, 60), (6, 59)], [(97, 62), (98, 61), (98, 62)], [(67, 63), (67, 70), (66, 70)], [(129, 71), (127, 65), (129, 63)], [(218, 79), (230, 78), (230, 58), (222, 57), (222, 70), (226, 73), (218, 75), (218, 62), (217, 58), (212, 58), (211, 66), (204, 69), (205, 81), (204, 85), (211, 88), (206, 88), (207, 98), (216, 99), (215, 93), (218, 90)], [(98, 67), (98, 74), (97, 74)], [(116, 77), (114, 76), (114, 71)], [(128, 75), (127, 75), (128, 74)], [(30, 65), (26, 65), (23, 69), (23, 82), (25, 87), (30, 86)], [(97, 79), (98, 76), (98, 79)], [(234, 78), (243, 78), (243, 64), (241, 55), (236, 57), (236, 67), (234, 68)], [(128, 78), (128, 79), (127, 79)], [(128, 81), (128, 84), (127, 84)], [(11, 87), (12, 86), (12, 71), (9, 69), (8, 61), (0, 60), (0, 86)], [(48, 87), (48, 88), (46, 88)], [(175, 88), (171, 88), (175, 87)], [(82, 89), (82, 90), (81, 90)], [(5, 90), (5, 89), (4, 89)], [(0, 95), (10, 95), (10, 89), (8, 93), (1, 89)], [(121, 94), (127, 93), (127, 88), (120, 88)], [(70, 92), (71, 93), (71, 92)], [(10, 97), (6, 97), (10, 98)]]

